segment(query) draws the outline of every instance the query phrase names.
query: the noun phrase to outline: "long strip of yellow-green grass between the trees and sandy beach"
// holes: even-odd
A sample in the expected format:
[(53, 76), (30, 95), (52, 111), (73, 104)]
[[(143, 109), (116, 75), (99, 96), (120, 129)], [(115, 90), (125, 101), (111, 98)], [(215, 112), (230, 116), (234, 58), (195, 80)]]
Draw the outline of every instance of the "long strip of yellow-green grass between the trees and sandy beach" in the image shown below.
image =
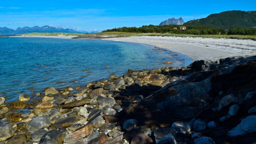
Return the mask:
[(231, 39), (256, 40), (256, 35), (187, 35), (187, 34), (171, 34), (171, 33), (128, 33), (128, 32), (101, 32), (101, 33), (91, 33), (91, 34), (79, 34), (79, 33), (26, 33), (25, 35), (79, 36), (78, 38), (90, 38), (90, 37), (94, 37), (94, 36), (96, 36), (96, 38), (101, 38), (102, 35), (109, 35), (111, 37), (173, 36), (173, 37), (231, 38)]

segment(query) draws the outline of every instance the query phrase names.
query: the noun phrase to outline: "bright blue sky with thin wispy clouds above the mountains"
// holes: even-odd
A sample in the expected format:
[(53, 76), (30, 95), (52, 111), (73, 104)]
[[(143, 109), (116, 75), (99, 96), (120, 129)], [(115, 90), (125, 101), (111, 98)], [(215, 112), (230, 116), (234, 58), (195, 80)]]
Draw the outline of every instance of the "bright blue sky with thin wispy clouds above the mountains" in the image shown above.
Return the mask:
[(228, 10), (256, 10), (256, 0), (2, 0), (0, 27), (72, 28), (79, 31), (158, 25), (168, 18), (184, 21)]

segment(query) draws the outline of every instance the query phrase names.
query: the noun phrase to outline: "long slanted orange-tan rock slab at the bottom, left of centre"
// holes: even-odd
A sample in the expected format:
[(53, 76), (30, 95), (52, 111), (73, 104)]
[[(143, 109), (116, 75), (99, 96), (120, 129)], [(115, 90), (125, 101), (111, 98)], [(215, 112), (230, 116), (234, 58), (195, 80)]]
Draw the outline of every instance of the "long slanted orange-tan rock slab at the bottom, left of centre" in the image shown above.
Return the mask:
[(89, 134), (91, 134), (93, 131), (93, 124), (92, 123), (87, 123), (86, 125), (80, 127), (79, 129), (75, 130), (74, 132), (68, 134), (64, 138), (64, 142), (72, 142), (78, 139), (82, 139)]

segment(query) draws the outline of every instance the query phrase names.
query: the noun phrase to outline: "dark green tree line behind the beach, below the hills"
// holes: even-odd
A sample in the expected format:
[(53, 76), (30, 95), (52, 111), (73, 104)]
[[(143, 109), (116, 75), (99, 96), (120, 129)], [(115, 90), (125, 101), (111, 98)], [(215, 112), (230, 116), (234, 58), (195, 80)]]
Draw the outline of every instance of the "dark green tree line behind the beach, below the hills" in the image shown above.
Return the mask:
[[(179, 26), (186, 26), (186, 30), (179, 30)], [(177, 28), (177, 29), (176, 29)], [(190, 34), (190, 35), (255, 35), (254, 28), (230, 28), (227, 32), (223, 28), (210, 26), (193, 25), (148, 25), (141, 27), (120, 27), (107, 29), (102, 32), (130, 32), (130, 33), (171, 33), (171, 34)]]

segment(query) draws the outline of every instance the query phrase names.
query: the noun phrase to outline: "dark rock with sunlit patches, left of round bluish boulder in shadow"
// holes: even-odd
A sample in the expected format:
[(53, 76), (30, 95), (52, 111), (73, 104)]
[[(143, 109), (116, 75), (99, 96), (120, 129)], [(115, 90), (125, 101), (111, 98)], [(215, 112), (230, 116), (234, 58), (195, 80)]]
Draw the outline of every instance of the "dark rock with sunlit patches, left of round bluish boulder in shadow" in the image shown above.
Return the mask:
[(189, 122), (174, 122), (172, 124), (172, 128), (177, 132), (177, 133), (188, 133), (191, 131), (192, 126), (191, 123)]

